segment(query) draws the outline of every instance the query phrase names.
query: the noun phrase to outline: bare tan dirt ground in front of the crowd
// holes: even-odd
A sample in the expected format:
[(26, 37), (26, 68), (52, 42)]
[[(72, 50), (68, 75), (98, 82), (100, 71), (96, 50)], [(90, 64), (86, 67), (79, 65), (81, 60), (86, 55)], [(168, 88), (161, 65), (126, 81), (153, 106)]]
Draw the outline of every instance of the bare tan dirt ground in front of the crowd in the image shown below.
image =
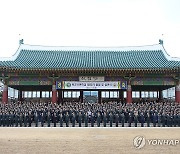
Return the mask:
[[(146, 145), (133, 139), (180, 140), (180, 128), (0, 128), (0, 154), (9, 153), (180, 153), (177, 145)], [(155, 143), (154, 143), (155, 144)]]

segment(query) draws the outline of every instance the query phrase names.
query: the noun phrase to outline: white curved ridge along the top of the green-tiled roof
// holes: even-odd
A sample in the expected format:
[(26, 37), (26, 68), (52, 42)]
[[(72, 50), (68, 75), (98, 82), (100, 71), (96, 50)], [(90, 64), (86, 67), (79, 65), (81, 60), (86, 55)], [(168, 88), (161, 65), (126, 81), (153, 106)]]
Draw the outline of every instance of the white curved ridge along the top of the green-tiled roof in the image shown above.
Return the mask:
[(36, 50), (36, 51), (157, 51), (161, 50), (168, 61), (180, 61), (180, 58), (171, 57), (161, 44), (144, 45), (144, 46), (119, 46), (119, 47), (96, 47), (96, 46), (42, 46), (21, 44), (12, 57), (0, 58), (0, 61), (14, 61), (21, 50)]

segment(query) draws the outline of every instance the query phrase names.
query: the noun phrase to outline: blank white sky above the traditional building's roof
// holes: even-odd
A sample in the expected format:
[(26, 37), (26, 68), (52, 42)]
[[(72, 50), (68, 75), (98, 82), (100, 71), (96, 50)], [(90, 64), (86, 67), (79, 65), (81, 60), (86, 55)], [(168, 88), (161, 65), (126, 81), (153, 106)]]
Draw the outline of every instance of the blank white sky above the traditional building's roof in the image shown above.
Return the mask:
[(12, 56), (21, 38), (49, 46), (151, 45), (163, 38), (168, 54), (180, 57), (180, 0), (1, 0), (0, 57)]

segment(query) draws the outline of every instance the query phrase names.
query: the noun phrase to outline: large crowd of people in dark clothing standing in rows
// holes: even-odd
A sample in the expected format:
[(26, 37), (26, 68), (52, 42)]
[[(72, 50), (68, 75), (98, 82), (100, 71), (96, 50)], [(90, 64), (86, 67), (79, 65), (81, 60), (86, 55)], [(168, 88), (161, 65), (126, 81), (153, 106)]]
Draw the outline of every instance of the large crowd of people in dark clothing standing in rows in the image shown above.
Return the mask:
[[(125, 125), (126, 124), (126, 125)], [(180, 127), (180, 103), (0, 103), (1, 127)]]

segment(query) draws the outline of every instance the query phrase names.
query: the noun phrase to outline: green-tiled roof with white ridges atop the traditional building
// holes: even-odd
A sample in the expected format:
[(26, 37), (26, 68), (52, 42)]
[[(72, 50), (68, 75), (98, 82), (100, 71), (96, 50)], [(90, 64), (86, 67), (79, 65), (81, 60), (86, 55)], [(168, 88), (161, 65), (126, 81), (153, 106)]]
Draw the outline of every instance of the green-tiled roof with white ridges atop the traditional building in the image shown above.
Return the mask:
[(45, 47), (22, 44), (0, 67), (23, 69), (156, 69), (179, 68), (160, 44), (138, 47)]

